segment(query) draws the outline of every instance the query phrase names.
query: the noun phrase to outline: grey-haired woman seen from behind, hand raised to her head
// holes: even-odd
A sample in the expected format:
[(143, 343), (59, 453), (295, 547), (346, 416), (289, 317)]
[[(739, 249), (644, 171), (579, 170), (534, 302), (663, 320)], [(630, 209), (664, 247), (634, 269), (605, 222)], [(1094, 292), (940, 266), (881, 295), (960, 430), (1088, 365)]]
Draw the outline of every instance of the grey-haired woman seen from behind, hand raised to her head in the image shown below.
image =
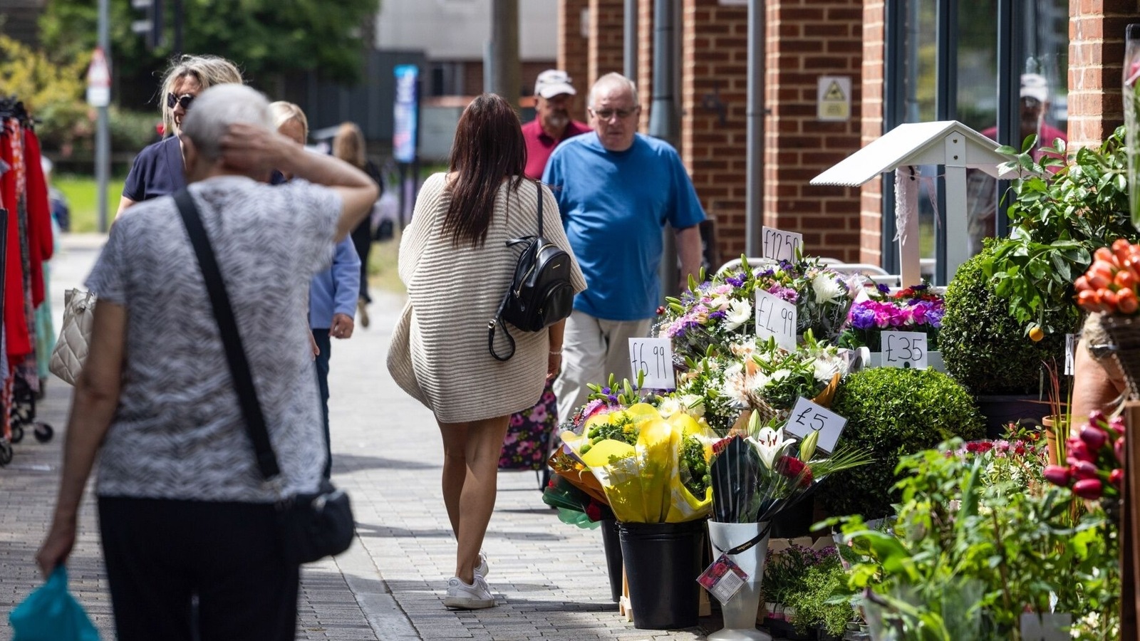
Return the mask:
[[(205, 284), (172, 196), (111, 230), (75, 386), (63, 478), (36, 561), (66, 561), (96, 454), (99, 526), (119, 639), (293, 639), (299, 568), (275, 502), (314, 492), (325, 452), (306, 323), (309, 281), (369, 211), (363, 171), (296, 152), (263, 96), (203, 92), (182, 123), (188, 190), (226, 282), (282, 473), (262, 481)], [(288, 185), (259, 180), (271, 168)], [(190, 602), (198, 608), (192, 615)], [(192, 622), (192, 616), (196, 617)]]

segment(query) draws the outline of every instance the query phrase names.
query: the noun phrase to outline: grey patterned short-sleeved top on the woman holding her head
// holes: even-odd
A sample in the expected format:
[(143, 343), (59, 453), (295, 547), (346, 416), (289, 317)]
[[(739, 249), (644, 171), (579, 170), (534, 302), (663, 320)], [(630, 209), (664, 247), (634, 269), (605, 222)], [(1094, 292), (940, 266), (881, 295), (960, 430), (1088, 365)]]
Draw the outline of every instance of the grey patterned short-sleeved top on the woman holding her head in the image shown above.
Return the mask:
[[(189, 187), (218, 257), (285, 480), (311, 492), (325, 462), (309, 348), (309, 281), (328, 268), (340, 196), (225, 176)], [(119, 408), (97, 494), (269, 503), (197, 258), (172, 196), (115, 220), (87, 286), (127, 308)]]

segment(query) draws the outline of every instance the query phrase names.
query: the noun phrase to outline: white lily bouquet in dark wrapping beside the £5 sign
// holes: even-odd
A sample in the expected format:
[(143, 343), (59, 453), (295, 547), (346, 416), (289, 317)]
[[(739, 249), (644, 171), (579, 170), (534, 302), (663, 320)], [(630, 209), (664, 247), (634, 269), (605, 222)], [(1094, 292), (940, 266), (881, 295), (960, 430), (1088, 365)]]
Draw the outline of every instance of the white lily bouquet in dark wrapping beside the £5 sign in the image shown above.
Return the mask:
[(712, 444), (712, 520), (755, 524), (772, 520), (795, 505), (828, 474), (871, 462), (864, 451), (838, 448), (817, 456), (820, 432), (787, 438), (783, 423), (752, 414), (747, 436)]

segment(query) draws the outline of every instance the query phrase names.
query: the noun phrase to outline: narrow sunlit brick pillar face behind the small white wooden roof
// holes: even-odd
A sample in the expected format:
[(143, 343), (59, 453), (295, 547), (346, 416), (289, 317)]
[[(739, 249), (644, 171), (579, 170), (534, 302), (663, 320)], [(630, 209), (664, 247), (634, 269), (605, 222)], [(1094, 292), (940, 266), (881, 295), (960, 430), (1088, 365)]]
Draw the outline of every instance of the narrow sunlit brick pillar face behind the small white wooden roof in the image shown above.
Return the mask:
[[(862, 145), (882, 136), (882, 52), (886, 44), (883, 0), (863, 3)], [(861, 189), (860, 262), (882, 265), (882, 181), (869, 180)]]

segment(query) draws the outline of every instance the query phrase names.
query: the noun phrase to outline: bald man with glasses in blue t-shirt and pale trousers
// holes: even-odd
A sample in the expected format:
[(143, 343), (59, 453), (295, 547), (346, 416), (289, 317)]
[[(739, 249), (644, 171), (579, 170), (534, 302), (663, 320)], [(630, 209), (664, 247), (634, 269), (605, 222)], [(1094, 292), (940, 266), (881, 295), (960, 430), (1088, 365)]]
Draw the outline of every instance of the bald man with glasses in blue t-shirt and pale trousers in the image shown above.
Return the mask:
[(543, 173), (588, 285), (565, 324), (554, 382), (560, 420), (586, 401), (586, 383), (604, 383), (611, 373), (630, 376), (628, 339), (649, 335), (661, 305), (666, 222), (676, 230), (682, 283), (701, 260), (705, 210), (676, 149), (637, 133), (633, 81), (617, 73), (600, 78), (588, 112), (594, 133), (564, 140)]

